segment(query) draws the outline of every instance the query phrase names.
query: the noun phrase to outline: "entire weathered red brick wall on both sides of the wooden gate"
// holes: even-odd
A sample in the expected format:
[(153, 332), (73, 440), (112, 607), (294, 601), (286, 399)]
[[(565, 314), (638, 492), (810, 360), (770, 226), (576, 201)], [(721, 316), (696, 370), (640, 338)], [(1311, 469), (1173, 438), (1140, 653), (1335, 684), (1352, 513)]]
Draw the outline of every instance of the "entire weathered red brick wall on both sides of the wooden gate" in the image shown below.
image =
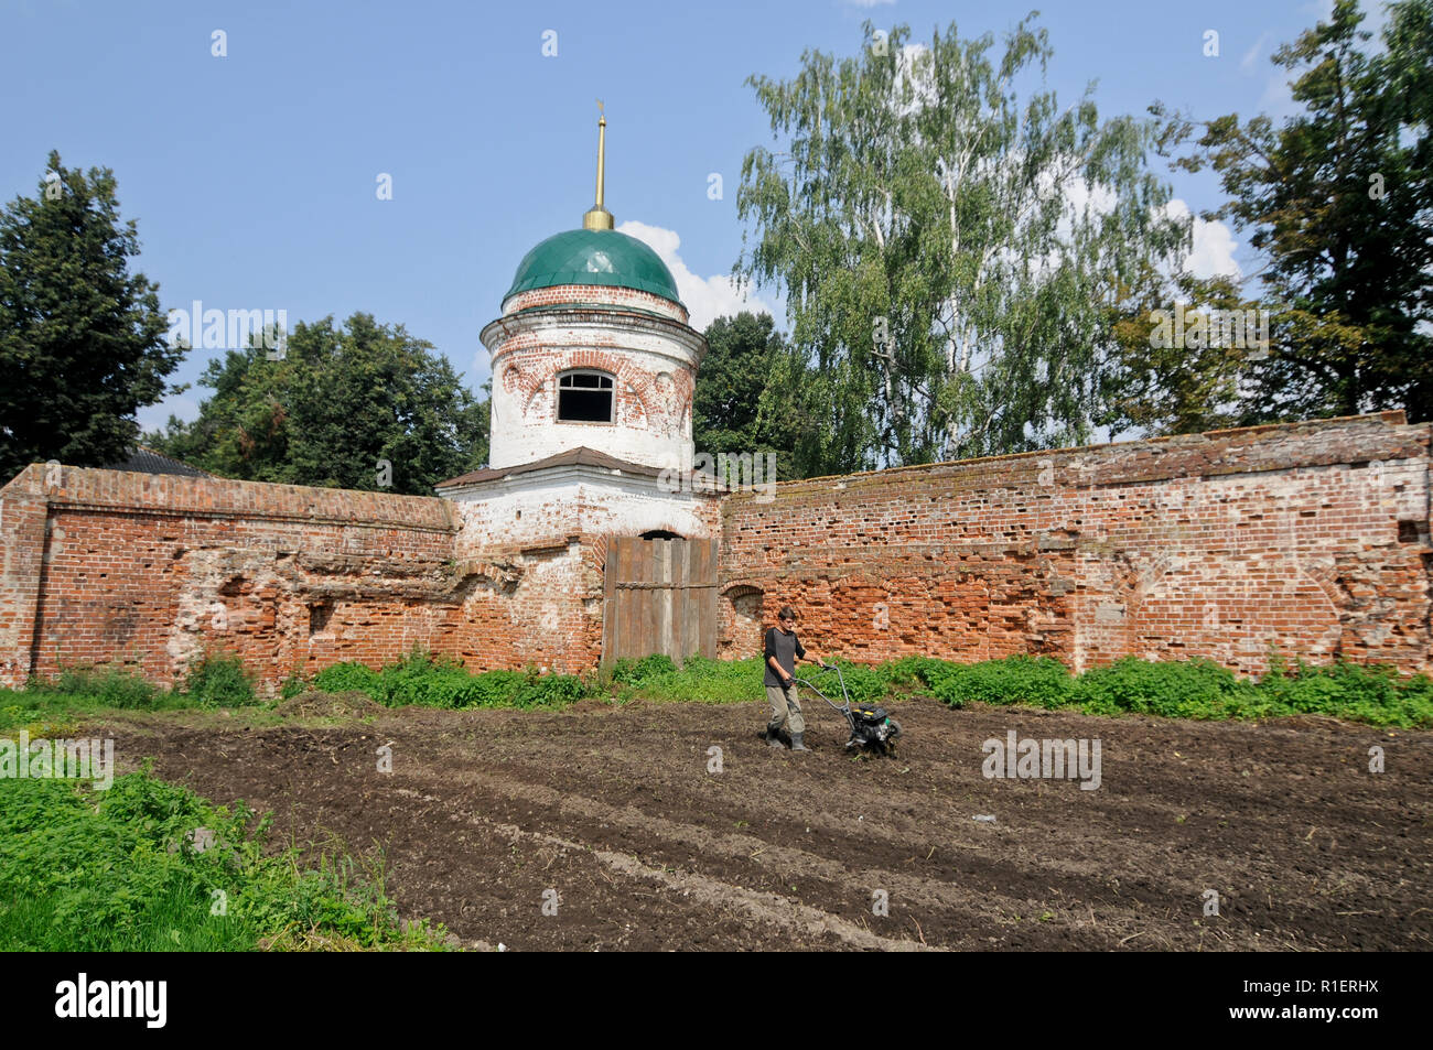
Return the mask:
[(414, 645), (575, 672), (600, 658), (606, 536), (646, 527), (719, 529), (725, 656), (790, 603), (813, 647), (868, 662), (1260, 672), (1277, 646), (1433, 670), (1430, 431), (1384, 414), (791, 481), (719, 521), (714, 500), (668, 521), (586, 484), (460, 507), (37, 464), (0, 490), (0, 680), (119, 663), (172, 683), (221, 649), (272, 690)]

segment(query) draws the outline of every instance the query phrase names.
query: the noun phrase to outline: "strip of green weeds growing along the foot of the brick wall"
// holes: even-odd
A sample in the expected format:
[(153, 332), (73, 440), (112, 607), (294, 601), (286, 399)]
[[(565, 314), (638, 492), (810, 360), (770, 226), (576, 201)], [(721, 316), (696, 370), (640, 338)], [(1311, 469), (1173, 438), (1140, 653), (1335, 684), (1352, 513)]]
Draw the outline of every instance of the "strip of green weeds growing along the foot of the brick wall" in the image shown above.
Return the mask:
[[(1237, 678), (1211, 660), (1149, 662), (1128, 656), (1116, 663), (1072, 675), (1048, 656), (1009, 656), (956, 663), (906, 656), (878, 666), (841, 665), (851, 699), (881, 702), (921, 693), (959, 708), (1023, 703), (1066, 708), (1091, 715), (1144, 713), (1191, 719), (1252, 719), (1287, 715), (1330, 715), (1379, 726), (1433, 726), (1433, 680), (1400, 676), (1386, 666), (1334, 663), (1288, 668), (1274, 663), (1261, 680)], [(802, 665), (798, 673), (827, 695), (840, 696), (835, 676)], [(304, 689), (360, 690), (388, 708), (542, 708), (559, 709), (585, 698), (613, 703), (748, 703), (765, 699), (762, 662), (686, 659), (678, 668), (666, 656), (622, 659), (602, 675), (547, 675), (536, 669), (471, 673), (457, 662), (414, 649), (373, 670), (361, 663), (335, 663), (311, 680), (284, 683), (282, 695)], [(123, 670), (66, 670), (52, 683), (26, 690), (0, 690), (0, 732), (42, 726), (105, 709), (160, 711), (257, 703), (252, 683), (232, 658), (211, 656), (186, 680), (166, 692)], [(42, 735), (32, 729), (32, 736)], [(57, 733), (52, 733), (57, 735)]]

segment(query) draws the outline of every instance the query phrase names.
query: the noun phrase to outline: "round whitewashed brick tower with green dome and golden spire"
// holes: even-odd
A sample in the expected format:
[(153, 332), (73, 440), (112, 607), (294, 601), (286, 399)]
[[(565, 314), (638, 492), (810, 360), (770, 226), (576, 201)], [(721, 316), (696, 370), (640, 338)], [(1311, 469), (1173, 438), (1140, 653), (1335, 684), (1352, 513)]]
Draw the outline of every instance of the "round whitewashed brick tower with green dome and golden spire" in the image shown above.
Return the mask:
[[(663, 574), (681, 580), (685, 592), (656, 596), (669, 606), (714, 586), (719, 533), (716, 493), (674, 484), (691, 470), (692, 391), (706, 339), (686, 324), (666, 264), (613, 229), (602, 203), (605, 159), (603, 116), (596, 203), (582, 229), (523, 256), (502, 317), (481, 332), (493, 355), (489, 467), (437, 486), (459, 509), (460, 556), (504, 566), (507, 615), (542, 625), (540, 662), (565, 669), (626, 647), (681, 655), (681, 630), (672, 637), (658, 626), (648, 637), (648, 627), (615, 626), (615, 610), (626, 607), (615, 592), (629, 582), (613, 577), (608, 552), (628, 541), (618, 560), (645, 580), (641, 590), (661, 590)], [(692, 557), (701, 566), (688, 564)], [(643, 623), (672, 619), (671, 609), (651, 606), (652, 593), (639, 597)], [(714, 602), (704, 590), (702, 607)], [(479, 659), (481, 632), (474, 625), (469, 650)]]

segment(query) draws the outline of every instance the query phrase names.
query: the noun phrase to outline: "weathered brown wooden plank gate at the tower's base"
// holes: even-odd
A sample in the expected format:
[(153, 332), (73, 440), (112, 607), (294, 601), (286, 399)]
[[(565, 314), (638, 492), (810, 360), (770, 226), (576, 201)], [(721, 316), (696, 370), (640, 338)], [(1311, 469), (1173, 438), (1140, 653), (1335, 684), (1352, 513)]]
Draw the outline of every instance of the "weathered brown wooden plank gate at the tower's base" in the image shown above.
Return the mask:
[(716, 540), (608, 540), (602, 665), (623, 656), (716, 658)]

